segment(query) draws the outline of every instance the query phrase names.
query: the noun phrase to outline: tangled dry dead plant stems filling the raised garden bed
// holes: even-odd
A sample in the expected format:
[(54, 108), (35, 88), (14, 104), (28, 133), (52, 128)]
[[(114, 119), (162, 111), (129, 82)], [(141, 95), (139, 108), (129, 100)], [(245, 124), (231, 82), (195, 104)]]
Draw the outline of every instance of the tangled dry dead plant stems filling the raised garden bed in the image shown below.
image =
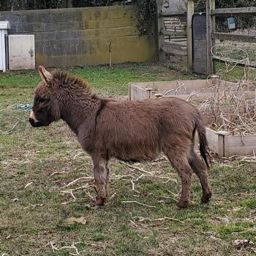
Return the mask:
[[(215, 45), (212, 53), (223, 57), (222, 50), (218, 50), (218, 45)], [(203, 116), (209, 117), (211, 127), (217, 131), (224, 130), (232, 135), (255, 134), (255, 69), (250, 65), (246, 50), (238, 47), (233, 47), (233, 50), (242, 53), (236, 59), (241, 58), (240, 62), (246, 64), (242, 77), (233, 83), (223, 83), (222, 80), (229, 77), (230, 72), (239, 64), (239, 61), (225, 61), (225, 66), (219, 70), (219, 74), (210, 77), (214, 78), (213, 94), (199, 105), (199, 109)]]

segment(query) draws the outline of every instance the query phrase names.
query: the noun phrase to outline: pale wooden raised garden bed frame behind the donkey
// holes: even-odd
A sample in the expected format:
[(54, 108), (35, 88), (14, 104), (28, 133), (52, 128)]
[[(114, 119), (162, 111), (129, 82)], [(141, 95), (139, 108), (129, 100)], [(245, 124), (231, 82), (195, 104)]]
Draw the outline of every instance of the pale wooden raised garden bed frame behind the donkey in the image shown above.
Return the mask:
[[(129, 100), (156, 99), (157, 97), (178, 97), (193, 102), (202, 102), (212, 96), (215, 88), (213, 80), (179, 80), (170, 82), (129, 83)], [(221, 90), (232, 83), (222, 81)], [(182, 86), (183, 85), (183, 86)], [(255, 91), (248, 91), (249, 98), (255, 98)], [(203, 117), (206, 124), (210, 117)], [(229, 132), (216, 132), (206, 128), (209, 148), (219, 157), (249, 155), (256, 152), (256, 135), (230, 135)]]

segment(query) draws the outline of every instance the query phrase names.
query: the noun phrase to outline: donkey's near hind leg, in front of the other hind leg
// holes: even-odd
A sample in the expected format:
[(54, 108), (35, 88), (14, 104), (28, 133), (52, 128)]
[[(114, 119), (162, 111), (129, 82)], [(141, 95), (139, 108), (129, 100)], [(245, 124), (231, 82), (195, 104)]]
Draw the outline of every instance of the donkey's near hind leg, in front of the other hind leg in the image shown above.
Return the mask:
[(175, 147), (168, 148), (165, 155), (168, 157), (170, 164), (173, 165), (178, 172), (178, 176), (181, 177), (181, 198), (178, 203), (176, 203), (176, 206), (184, 208), (188, 205), (190, 200), (191, 177), (193, 173), (187, 160), (187, 151)]

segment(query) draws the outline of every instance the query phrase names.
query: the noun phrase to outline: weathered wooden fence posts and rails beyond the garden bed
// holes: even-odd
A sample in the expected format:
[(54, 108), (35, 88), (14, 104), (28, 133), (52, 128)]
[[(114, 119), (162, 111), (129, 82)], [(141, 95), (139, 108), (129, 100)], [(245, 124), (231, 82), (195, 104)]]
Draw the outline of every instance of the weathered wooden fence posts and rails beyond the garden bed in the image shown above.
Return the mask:
[[(165, 39), (187, 38), (187, 70), (191, 73), (193, 70), (192, 17), (194, 15), (194, 1), (188, 1), (187, 12), (162, 12), (162, 0), (157, 0), (157, 7), (158, 59), (160, 61), (165, 59)], [(215, 0), (206, 0), (207, 75), (214, 73), (214, 59), (239, 65), (248, 64), (246, 60), (241, 61), (212, 54), (215, 52), (213, 47), (216, 45), (216, 39), (256, 43), (256, 36), (253, 34), (236, 34), (233, 32), (224, 33), (216, 31), (215, 18), (233, 17), (236, 15), (249, 17), (255, 14), (256, 7), (215, 9)], [(249, 65), (250, 67), (256, 67), (256, 61), (250, 61)]]

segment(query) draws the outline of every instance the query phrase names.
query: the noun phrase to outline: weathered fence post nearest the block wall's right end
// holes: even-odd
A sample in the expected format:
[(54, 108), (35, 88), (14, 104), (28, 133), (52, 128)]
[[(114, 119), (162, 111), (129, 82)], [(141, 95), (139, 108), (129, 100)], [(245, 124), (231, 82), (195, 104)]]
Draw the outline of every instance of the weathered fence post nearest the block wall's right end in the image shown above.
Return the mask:
[(163, 49), (165, 44), (164, 35), (165, 21), (162, 17), (162, 0), (157, 0), (157, 59), (158, 61), (165, 60), (165, 51)]

